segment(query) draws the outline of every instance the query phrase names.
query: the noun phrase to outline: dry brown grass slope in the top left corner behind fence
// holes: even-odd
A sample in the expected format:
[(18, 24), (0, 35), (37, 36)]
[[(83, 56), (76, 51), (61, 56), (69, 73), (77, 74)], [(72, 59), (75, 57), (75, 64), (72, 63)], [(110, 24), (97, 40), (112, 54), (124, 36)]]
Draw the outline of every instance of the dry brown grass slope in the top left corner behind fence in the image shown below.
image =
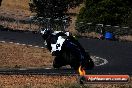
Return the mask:
[(3, 0), (0, 15), (12, 18), (24, 18), (31, 15), (29, 0)]

